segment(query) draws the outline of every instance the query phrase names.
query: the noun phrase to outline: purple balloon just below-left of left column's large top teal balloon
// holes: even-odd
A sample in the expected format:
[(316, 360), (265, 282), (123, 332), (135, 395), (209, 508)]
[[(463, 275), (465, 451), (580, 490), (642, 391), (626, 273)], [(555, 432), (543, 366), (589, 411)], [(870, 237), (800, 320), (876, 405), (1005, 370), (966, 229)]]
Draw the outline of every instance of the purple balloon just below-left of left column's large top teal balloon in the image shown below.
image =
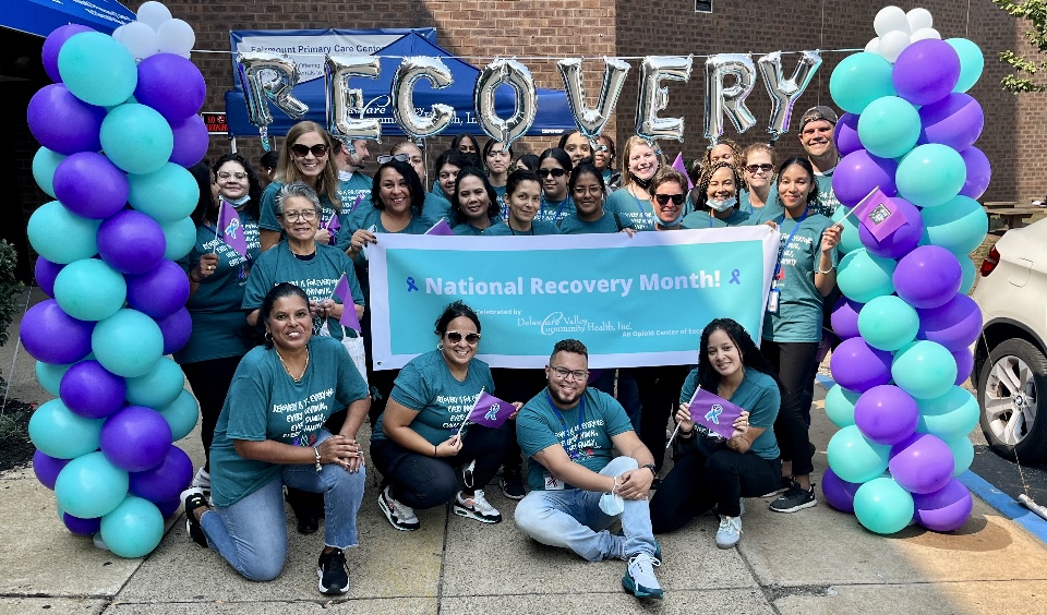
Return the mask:
[(33, 136), (51, 152), (69, 156), (101, 149), (106, 110), (73, 96), (64, 85), (45, 85), (29, 100), (26, 119)]

